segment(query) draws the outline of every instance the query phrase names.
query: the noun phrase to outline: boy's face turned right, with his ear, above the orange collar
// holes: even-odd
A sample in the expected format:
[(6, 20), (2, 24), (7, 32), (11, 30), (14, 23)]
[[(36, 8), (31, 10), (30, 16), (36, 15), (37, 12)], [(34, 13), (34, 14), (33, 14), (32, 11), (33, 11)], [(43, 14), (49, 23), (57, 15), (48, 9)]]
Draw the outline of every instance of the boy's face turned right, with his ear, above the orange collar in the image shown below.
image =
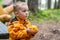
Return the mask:
[(18, 18), (27, 19), (28, 18), (28, 6), (27, 4), (19, 5), (18, 11), (15, 12)]

